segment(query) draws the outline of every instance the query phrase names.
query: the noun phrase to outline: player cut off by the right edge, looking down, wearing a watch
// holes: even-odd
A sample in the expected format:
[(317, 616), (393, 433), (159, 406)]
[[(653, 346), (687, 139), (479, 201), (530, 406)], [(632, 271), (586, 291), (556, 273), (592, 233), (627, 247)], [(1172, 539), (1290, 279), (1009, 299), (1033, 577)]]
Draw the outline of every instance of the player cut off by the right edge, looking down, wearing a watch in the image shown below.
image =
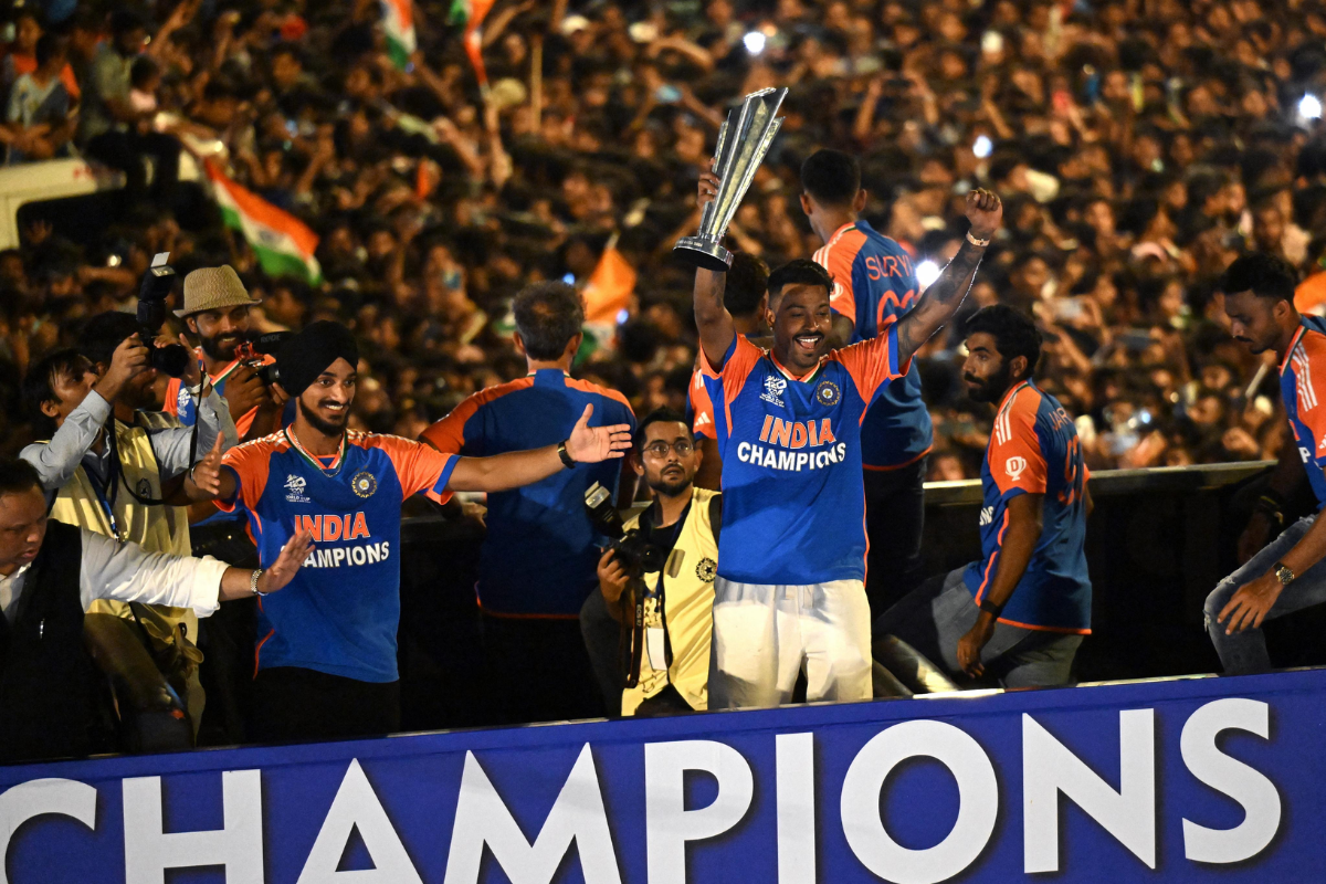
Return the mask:
[[(1294, 435), (1240, 539), (1245, 550), (1265, 546), (1207, 596), (1207, 631), (1231, 675), (1270, 669), (1262, 622), (1326, 600), (1326, 520), (1318, 518), (1326, 504), (1326, 408), (1317, 399), (1317, 387), (1326, 388), (1326, 321), (1294, 309), (1297, 281), (1293, 266), (1265, 252), (1240, 257), (1220, 281), (1235, 339), (1280, 357), (1280, 395)], [(1266, 543), (1305, 470), (1318, 513)]]

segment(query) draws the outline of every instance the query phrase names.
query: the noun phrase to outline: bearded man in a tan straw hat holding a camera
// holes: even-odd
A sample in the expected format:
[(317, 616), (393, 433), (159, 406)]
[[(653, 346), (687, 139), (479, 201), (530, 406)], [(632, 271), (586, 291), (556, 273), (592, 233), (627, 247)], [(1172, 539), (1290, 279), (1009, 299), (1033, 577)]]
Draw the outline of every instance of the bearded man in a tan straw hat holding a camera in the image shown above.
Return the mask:
[[(249, 333), (251, 298), (239, 274), (228, 264), (199, 268), (184, 277), (184, 307), (175, 315), (198, 338), (196, 350), (212, 388), (231, 407), (240, 441), (261, 439), (280, 428), (284, 398), (269, 391), (257, 368), (241, 360), (239, 347)], [(272, 362), (264, 357), (263, 362)], [(166, 412), (186, 427), (194, 425), (194, 396), (186, 384), (172, 378), (166, 387)], [(206, 449), (204, 449), (206, 451)]]

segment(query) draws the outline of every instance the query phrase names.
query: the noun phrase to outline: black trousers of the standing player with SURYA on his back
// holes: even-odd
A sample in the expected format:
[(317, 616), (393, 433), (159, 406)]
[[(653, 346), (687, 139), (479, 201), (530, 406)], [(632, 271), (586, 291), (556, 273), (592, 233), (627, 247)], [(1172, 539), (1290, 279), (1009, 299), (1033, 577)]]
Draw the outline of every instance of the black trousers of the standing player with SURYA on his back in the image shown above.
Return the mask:
[(926, 464), (922, 457), (898, 469), (865, 470), (866, 598), (876, 619), (916, 588), (922, 573), (920, 537), (926, 527)]

